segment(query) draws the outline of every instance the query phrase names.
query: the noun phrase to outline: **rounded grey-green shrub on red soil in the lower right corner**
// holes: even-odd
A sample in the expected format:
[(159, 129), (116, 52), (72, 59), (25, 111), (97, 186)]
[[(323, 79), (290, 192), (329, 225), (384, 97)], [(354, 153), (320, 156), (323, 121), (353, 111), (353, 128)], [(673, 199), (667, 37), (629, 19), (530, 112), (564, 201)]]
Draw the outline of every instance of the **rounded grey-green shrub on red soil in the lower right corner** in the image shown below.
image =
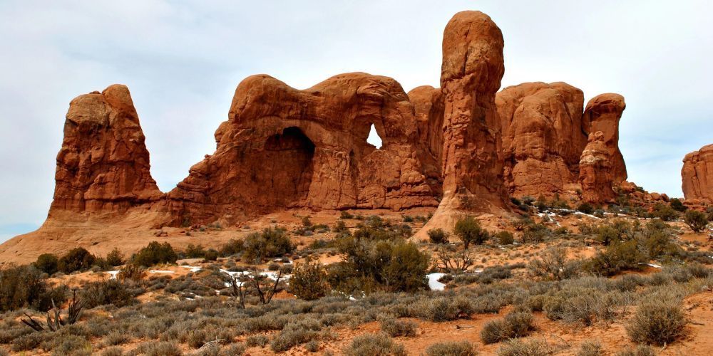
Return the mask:
[(658, 301), (639, 305), (626, 330), (634, 342), (663, 345), (681, 337), (685, 326), (686, 317), (680, 305)]

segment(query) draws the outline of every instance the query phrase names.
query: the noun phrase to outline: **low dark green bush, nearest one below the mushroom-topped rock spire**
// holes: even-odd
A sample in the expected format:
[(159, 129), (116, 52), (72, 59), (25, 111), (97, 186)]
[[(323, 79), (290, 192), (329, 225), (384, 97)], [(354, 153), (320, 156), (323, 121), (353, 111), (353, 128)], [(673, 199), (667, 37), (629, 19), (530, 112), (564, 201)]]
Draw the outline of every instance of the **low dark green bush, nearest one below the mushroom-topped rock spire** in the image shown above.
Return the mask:
[(607, 246), (584, 264), (585, 270), (597, 276), (614, 276), (620, 271), (640, 268), (647, 261), (636, 241), (619, 242)]

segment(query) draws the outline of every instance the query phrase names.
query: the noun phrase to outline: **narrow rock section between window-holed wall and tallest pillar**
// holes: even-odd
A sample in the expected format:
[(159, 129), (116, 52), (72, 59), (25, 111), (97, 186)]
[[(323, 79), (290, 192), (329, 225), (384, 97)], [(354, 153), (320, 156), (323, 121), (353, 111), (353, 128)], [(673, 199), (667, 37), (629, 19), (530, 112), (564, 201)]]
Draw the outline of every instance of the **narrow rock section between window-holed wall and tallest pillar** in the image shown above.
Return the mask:
[(416, 148), (423, 164), (423, 172), (431, 190), (441, 196), (441, 155), (443, 151), (443, 95), (441, 89), (430, 85), (416, 87), (409, 92), (409, 100), (416, 111), (419, 139)]

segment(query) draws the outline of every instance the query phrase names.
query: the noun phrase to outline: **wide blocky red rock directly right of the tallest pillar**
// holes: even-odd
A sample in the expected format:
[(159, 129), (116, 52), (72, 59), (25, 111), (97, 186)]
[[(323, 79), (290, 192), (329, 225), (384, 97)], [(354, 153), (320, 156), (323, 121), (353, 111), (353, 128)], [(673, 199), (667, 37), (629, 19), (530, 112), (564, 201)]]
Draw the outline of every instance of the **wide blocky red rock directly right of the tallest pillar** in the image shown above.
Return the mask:
[(552, 197), (577, 182), (587, 144), (584, 95), (567, 83), (523, 83), (496, 96), (504, 179), (513, 197)]

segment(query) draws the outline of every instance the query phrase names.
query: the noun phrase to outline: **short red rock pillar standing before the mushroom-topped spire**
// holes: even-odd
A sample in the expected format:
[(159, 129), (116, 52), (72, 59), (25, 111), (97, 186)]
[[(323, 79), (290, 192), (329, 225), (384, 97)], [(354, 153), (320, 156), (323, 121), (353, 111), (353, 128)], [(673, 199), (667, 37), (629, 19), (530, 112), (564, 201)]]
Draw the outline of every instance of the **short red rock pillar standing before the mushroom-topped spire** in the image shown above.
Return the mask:
[(607, 145), (604, 132), (597, 131), (589, 135), (589, 142), (580, 159), (580, 184), (582, 199), (589, 202), (605, 202), (616, 197), (614, 184), (614, 157)]

